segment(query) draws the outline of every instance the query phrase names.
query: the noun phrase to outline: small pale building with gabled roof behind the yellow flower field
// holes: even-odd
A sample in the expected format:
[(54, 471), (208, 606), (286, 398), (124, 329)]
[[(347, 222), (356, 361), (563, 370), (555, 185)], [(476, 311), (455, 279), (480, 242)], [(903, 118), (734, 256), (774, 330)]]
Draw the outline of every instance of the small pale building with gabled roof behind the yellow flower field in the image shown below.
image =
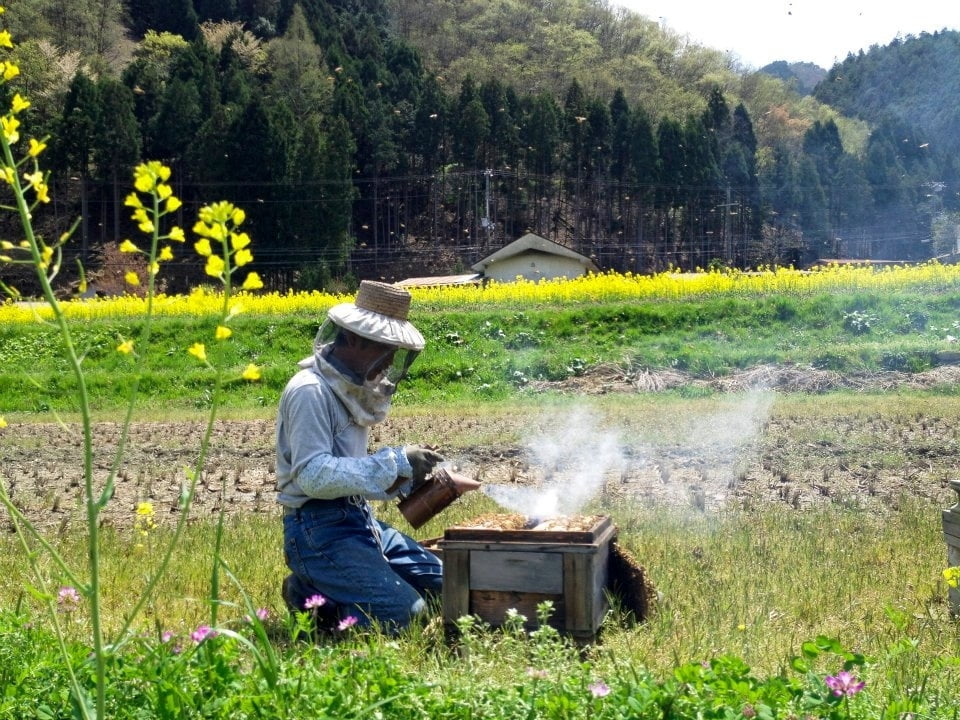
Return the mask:
[(533, 233), (505, 245), (471, 269), (482, 273), (484, 280), (498, 282), (513, 282), (518, 276), (536, 282), (600, 272), (586, 255)]

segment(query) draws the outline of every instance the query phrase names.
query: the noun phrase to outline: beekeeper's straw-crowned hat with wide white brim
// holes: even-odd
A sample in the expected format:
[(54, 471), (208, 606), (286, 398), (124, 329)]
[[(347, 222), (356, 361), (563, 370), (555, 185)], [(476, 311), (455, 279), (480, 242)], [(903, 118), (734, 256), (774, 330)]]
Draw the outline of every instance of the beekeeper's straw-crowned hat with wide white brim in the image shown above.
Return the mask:
[(334, 305), (327, 317), (342, 328), (375, 342), (423, 350), (423, 335), (407, 316), (410, 293), (388, 283), (363, 280), (352, 303)]

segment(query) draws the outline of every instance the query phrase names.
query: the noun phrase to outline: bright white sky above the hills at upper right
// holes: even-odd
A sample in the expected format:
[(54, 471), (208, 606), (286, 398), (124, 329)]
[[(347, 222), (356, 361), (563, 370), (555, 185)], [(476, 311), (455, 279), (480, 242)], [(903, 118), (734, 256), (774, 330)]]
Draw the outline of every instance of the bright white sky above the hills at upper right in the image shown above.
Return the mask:
[(960, 30), (957, 0), (612, 0), (749, 67), (774, 60), (829, 69), (896, 37)]

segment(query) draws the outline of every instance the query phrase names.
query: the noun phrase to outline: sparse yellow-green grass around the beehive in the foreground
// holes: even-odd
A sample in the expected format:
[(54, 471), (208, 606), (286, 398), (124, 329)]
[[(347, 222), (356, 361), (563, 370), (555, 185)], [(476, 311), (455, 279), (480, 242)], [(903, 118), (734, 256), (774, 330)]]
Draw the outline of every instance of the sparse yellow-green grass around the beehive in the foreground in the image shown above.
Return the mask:
[[(491, 509), (494, 508), (484, 497), (467, 496), (448, 511), (443, 521), (454, 523), (458, 518)], [(503, 714), (484, 714), (480, 706), (495, 704), (504, 693), (518, 692), (518, 686), (534, 692), (537, 681), (525, 675), (527, 667), (548, 670), (551, 680), (542, 683), (541, 690), (556, 684), (552, 692), (561, 695), (573, 692), (561, 687), (563, 678), (569, 681), (587, 676), (591, 681), (603, 680), (620, 692), (644, 673), (650, 674), (648, 686), (669, 683), (678, 668), (687, 664), (698, 667), (709, 661), (720, 663), (727, 657), (742, 658), (752, 668), (753, 678), (772, 682), (795, 674), (791, 658), (800, 653), (804, 642), (817, 636), (835, 638), (846, 650), (867, 658), (868, 663), (858, 673), (868, 683), (874, 707), (864, 717), (875, 717), (878, 708), (911, 693), (919, 694), (930, 716), (952, 717), (949, 703), (957, 699), (960, 642), (956, 625), (947, 616), (944, 587), (938, 579), (943, 565), (943, 542), (936, 507), (905, 498), (896, 512), (884, 516), (843, 509), (704, 514), (629, 503), (594, 509), (607, 512), (614, 519), (620, 531), (619, 542), (642, 560), (661, 600), (649, 620), (640, 625), (627, 622), (615, 611), (602, 630), (601, 642), (584, 656), (564, 649), (562, 643), (522, 639), (508, 631), (475, 631), (459, 645), (451, 644), (438, 635), (435, 625), (416, 626), (396, 639), (373, 634), (339, 642), (329, 640), (312, 648), (290, 639), (291, 630), (278, 591), (284, 568), (276, 518), (253, 516), (230, 521), (224, 560), (253, 605), (270, 609), (266, 630), (277, 651), (287, 658), (281, 671), (286, 682), (304, 682), (313, 673), (322, 675), (322, 669), (330, 665), (340, 667), (338, 672), (346, 672), (350, 658), (360, 653), (363, 662), (355, 669), (370, 676), (351, 680), (357, 694), (350, 695), (349, 701), (343, 700), (353, 703), (351, 712), (357, 712), (357, 717), (362, 707), (383, 697), (377, 693), (384, 688), (361, 692), (366, 683), (387, 683), (392, 688), (387, 695), (399, 696), (391, 701), (392, 705), (388, 704), (396, 708), (396, 714), (387, 717), (419, 717), (415, 708), (418, 702), (427, 702), (427, 697), (438, 704), (441, 697), (447, 698), (444, 703), (450, 698), (458, 699), (461, 706), (457, 712), (462, 714), (444, 717), (524, 717), (514, 708), (514, 703), (519, 703), (517, 698), (507, 702)], [(400, 522), (392, 507), (381, 508), (380, 514)], [(434, 520), (419, 535), (427, 537), (441, 530), (442, 526)], [(152, 548), (162, 542), (164, 534), (163, 530), (155, 531), (143, 549), (133, 547), (137, 538), (117, 533), (105, 535), (109, 625), (119, 624), (127, 598), (141, 589), (153, 557)], [(170, 631), (183, 647), (195, 651), (188, 636), (208, 617), (212, 538), (211, 523), (190, 529), (174, 559), (172, 573), (150, 603), (143, 628), (149, 637)], [(83, 547), (78, 538), (65, 537), (60, 544), (68, 557), (82, 560)], [(251, 552), (251, 548), (257, 550)], [(23, 568), (17, 558), (11, 537), (4, 536), (0, 542), (0, 604), (6, 608), (20, 607), (30, 618), (29, 597), (23, 594), (21, 585)], [(53, 573), (53, 568), (48, 570)], [(244, 632), (248, 626), (242, 618), (248, 611), (240, 589), (226, 587), (223, 602), (223, 627)], [(7, 616), (5, 622), (9, 629), (11, 618)], [(82, 611), (67, 618), (67, 622), (68, 636), (82, 644)], [(0, 619), (0, 625), (3, 623)], [(47, 665), (56, 667), (50, 657), (53, 645), (49, 638), (22, 628), (11, 633), (0, 646), (8, 655), (21, 654), (17, 660), (21, 670), (36, 674)], [(180, 677), (179, 682), (212, 683), (226, 694), (224, 702), (231, 699), (231, 687), (234, 693), (255, 692), (256, 684), (249, 681), (236, 686), (218, 685), (228, 674), (231, 683), (240, 683), (239, 673), (251, 659), (242, 647), (224, 649), (222, 653), (217, 662), (227, 667), (214, 672), (213, 668), (204, 669), (200, 660), (194, 658), (197, 667), (180, 668), (178, 672), (185, 673), (185, 677)], [(586, 666), (582, 665), (584, 659)], [(825, 653), (814, 664), (823, 674), (836, 674), (842, 658)], [(238, 673), (236, 678), (232, 677), (233, 671), (228, 672), (233, 666)], [(6, 672), (10, 676), (11, 666), (7, 667), (0, 675)], [(45, 672), (49, 671), (50, 668)], [(132, 671), (126, 668), (124, 672)], [(172, 673), (174, 669), (166, 667), (160, 672)], [(122, 688), (129, 691), (128, 683), (133, 678), (124, 680), (123, 673), (120, 677), (113, 692)], [(334, 692), (342, 679), (322, 676), (313, 681), (320, 687), (302, 698), (287, 698), (284, 702), (293, 703), (297, 712), (306, 712), (312, 703), (326, 702), (322, 698)], [(241, 687), (245, 689), (241, 691)], [(35, 691), (39, 692), (39, 686)], [(200, 688), (196, 691), (199, 693)], [(274, 693), (279, 695), (281, 691), (271, 690), (267, 695), (272, 697)], [(32, 703), (36, 697), (22, 695), (21, 691), (13, 698), (24, 702), (29, 699)], [(581, 687), (575, 697), (578, 699), (571, 706), (572, 715), (545, 713), (534, 717), (585, 716), (581, 713), (588, 711), (589, 694)], [(26, 707), (11, 699), (6, 702), (0, 708)], [(469, 714), (469, 707), (477, 714)], [(455, 709), (455, 705), (447, 705), (445, 712), (454, 713)], [(214, 716), (210, 708), (196, 712), (197, 716)], [(230, 717), (248, 716), (239, 709), (232, 712), (236, 714)], [(252, 715), (252, 711), (248, 712)], [(488, 709), (489, 712), (492, 711)], [(124, 714), (120, 708), (116, 713), (116, 717), (134, 716)], [(283, 716), (279, 712), (266, 715)], [(4, 715), (0, 713), (0, 717)]]

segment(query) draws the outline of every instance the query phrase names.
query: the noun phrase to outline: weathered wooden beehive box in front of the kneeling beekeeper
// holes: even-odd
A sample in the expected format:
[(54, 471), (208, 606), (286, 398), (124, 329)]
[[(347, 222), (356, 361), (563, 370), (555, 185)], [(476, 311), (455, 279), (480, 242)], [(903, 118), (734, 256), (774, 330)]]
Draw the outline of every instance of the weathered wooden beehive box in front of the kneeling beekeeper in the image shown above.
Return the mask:
[(587, 530), (498, 530), (450, 527), (443, 554), (443, 619), (448, 629), (464, 615), (493, 627), (511, 608), (537, 625), (537, 605), (553, 601), (549, 622), (590, 641), (607, 612), (604, 588), (610, 544), (617, 536), (601, 516)]

